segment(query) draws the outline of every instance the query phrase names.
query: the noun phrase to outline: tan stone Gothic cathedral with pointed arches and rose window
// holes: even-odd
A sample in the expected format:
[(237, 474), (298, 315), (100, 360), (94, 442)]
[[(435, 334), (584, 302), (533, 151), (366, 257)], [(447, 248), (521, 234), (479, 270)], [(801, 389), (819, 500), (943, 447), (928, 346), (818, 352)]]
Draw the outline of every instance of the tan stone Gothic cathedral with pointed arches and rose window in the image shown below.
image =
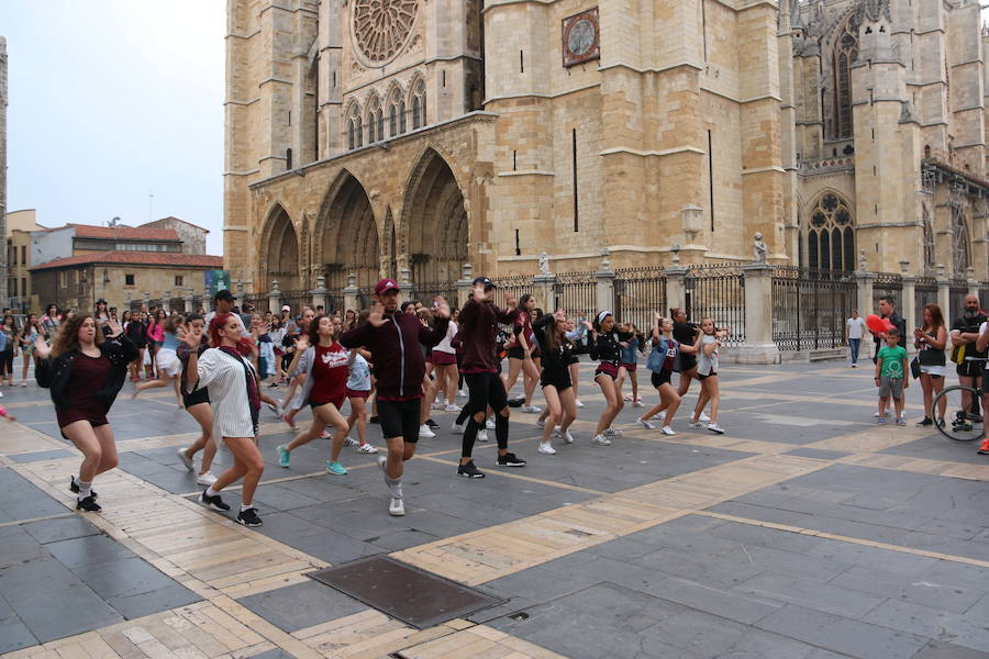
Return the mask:
[(987, 272), (967, 0), (232, 0), (248, 290), (740, 261)]

